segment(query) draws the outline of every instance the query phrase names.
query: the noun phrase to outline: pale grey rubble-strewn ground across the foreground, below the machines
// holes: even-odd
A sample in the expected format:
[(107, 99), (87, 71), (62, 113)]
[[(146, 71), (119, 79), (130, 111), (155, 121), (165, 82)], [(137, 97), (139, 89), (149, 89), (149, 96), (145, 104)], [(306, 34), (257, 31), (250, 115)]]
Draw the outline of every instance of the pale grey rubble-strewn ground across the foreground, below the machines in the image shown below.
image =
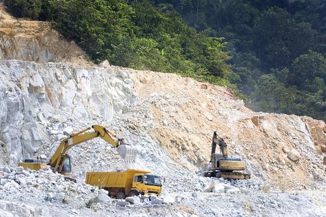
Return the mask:
[(194, 176), (196, 191), (116, 200), (49, 168), (1, 167), (0, 174), (0, 216), (325, 216), (326, 211), (323, 191), (283, 192), (248, 180)]

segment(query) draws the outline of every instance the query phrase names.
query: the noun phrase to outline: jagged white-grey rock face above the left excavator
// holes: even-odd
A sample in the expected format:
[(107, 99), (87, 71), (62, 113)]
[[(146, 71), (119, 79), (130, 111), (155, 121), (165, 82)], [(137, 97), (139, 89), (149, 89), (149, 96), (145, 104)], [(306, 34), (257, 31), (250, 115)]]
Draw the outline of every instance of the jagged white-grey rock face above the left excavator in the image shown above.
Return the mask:
[[(17, 165), (45, 143), (45, 128), (61, 110), (79, 118), (110, 119), (134, 101), (132, 80), (117, 68), (78, 68), (55, 63), (0, 61), (0, 152), (4, 165)], [(64, 117), (63, 119), (65, 119)], [(62, 133), (70, 134), (72, 126)]]

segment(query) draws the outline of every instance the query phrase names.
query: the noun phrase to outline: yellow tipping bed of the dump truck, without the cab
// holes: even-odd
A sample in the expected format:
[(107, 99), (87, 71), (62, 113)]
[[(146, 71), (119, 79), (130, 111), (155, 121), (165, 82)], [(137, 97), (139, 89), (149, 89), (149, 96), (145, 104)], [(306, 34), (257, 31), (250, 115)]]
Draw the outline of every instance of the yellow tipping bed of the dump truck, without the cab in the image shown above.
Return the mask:
[(134, 174), (148, 174), (149, 171), (128, 169), (124, 172), (87, 172), (86, 184), (99, 187), (123, 187), (130, 189)]

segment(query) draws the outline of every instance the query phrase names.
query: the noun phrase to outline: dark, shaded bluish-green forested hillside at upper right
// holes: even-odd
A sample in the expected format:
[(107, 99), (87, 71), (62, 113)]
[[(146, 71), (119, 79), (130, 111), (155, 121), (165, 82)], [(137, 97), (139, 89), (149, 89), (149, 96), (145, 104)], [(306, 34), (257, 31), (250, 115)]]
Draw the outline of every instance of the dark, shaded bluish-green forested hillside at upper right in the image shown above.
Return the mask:
[(326, 120), (326, 1), (152, 0), (225, 37), (232, 81), (254, 110)]

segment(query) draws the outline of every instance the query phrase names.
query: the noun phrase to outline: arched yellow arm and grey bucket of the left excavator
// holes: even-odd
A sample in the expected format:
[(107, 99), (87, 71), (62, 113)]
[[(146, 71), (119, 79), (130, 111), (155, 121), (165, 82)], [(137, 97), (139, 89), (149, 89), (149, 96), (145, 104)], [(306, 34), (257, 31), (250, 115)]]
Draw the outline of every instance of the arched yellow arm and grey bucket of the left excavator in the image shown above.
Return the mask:
[[(88, 132), (91, 129), (93, 129), (94, 132)], [(56, 152), (54, 152), (53, 156), (50, 158), (49, 165), (52, 167), (54, 172), (65, 174), (70, 173), (69, 171), (64, 172), (63, 169), (65, 166), (65, 161), (68, 158), (68, 154), (66, 154), (68, 150), (74, 147), (74, 145), (78, 145), (79, 143), (83, 143), (96, 137), (101, 137), (114, 147), (118, 147), (118, 152), (125, 159), (125, 161), (128, 161), (128, 163), (134, 163), (136, 158), (136, 149), (127, 147), (128, 144), (124, 144), (122, 139), (116, 139), (115, 136), (116, 135), (114, 133), (105, 129), (105, 127), (100, 125), (92, 125), (92, 127), (88, 127), (85, 130), (72, 134), (68, 138), (61, 141)], [(70, 161), (70, 158), (68, 158), (68, 161)], [(70, 165), (70, 162), (68, 164)]]

